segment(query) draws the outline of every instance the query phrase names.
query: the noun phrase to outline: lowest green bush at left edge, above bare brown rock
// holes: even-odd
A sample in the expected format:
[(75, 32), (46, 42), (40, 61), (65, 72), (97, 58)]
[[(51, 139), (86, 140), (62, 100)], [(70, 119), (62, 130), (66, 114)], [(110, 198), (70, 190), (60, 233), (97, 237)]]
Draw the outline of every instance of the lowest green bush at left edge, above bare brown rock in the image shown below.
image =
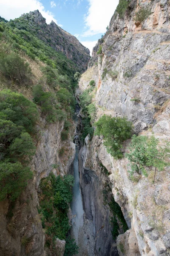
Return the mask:
[(32, 176), (30, 168), (20, 162), (0, 162), (0, 201), (5, 200), (7, 195), (10, 201), (14, 201)]

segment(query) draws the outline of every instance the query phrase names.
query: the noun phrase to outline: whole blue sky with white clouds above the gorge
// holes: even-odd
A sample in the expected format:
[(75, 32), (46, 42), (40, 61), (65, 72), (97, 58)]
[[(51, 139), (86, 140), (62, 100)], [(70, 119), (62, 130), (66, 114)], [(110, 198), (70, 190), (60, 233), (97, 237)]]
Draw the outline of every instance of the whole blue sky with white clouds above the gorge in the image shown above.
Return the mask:
[(119, 0), (0, 0), (0, 16), (7, 20), (38, 9), (46, 22), (54, 20), (90, 50), (106, 32)]

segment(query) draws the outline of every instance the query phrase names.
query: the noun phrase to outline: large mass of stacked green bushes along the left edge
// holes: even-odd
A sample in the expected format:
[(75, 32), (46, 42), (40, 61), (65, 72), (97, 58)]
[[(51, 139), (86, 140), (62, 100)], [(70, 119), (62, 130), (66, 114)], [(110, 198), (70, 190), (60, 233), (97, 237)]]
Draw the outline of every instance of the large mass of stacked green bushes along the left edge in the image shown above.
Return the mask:
[(0, 92), (0, 201), (14, 201), (31, 179), (28, 167), (35, 153), (30, 134), (38, 119), (36, 105), (22, 94)]

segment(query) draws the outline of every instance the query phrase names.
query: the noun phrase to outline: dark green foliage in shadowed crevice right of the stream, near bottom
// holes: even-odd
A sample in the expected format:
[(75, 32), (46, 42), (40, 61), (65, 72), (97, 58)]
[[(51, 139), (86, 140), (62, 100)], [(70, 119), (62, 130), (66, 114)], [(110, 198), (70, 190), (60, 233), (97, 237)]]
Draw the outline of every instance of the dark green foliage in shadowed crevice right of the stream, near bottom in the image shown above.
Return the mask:
[[(128, 226), (127, 226), (127, 223), (126, 223), (125, 218), (123, 216), (121, 207), (119, 206), (119, 204), (117, 204), (114, 201), (114, 198), (112, 198), (112, 201), (109, 205), (110, 205), (110, 208), (111, 208), (112, 213), (113, 213), (113, 217), (111, 218), (111, 224), (112, 224), (112, 227), (113, 227), (112, 236), (113, 236), (113, 239), (116, 239), (116, 236), (119, 235), (119, 227), (122, 226), (123, 231), (126, 232), (126, 230), (128, 230)], [(118, 221), (119, 221), (119, 224), (118, 224)]]

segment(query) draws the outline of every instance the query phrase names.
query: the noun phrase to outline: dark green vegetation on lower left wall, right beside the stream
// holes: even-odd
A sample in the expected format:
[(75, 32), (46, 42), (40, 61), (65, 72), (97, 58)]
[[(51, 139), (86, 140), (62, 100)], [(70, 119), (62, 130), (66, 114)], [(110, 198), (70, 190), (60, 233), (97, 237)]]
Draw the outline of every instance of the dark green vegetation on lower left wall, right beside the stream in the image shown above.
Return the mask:
[(55, 177), (50, 174), (40, 182), (40, 209), (42, 227), (45, 228), (45, 243), (53, 252), (55, 239), (66, 239), (65, 256), (77, 253), (77, 245), (73, 239), (67, 236), (70, 230), (68, 220), (68, 208), (72, 200), (72, 175)]

